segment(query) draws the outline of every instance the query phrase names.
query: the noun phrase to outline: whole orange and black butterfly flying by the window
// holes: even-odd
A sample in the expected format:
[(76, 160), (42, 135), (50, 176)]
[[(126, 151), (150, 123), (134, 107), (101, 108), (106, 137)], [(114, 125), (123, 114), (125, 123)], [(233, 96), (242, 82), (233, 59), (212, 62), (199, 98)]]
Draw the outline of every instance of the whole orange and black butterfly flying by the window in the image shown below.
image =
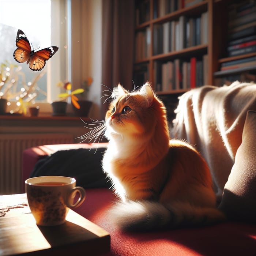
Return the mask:
[(18, 48), (13, 53), (14, 59), (19, 63), (27, 61), (29, 68), (33, 71), (42, 70), (45, 66), (46, 60), (49, 60), (59, 49), (57, 46), (50, 46), (49, 48), (34, 52), (34, 50), (31, 50), (30, 43), (26, 35), (20, 29), (17, 32), (16, 46)]

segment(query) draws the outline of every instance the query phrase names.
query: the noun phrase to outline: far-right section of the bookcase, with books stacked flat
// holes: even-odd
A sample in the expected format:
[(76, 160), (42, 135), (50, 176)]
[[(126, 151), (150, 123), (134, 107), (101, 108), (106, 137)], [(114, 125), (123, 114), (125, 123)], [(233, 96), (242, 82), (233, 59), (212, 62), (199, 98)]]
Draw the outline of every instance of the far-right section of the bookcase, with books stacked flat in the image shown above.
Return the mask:
[(227, 57), (215, 75), (218, 86), (235, 80), (255, 80), (256, 69), (256, 1), (244, 0), (229, 5)]

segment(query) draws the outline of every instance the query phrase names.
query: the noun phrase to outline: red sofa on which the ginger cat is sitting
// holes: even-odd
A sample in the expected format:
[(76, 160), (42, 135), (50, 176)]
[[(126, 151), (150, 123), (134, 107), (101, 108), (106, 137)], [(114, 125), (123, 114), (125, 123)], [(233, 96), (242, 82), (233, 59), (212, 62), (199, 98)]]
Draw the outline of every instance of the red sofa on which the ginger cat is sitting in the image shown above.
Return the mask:
[[(90, 148), (93, 144), (62, 144), (33, 147), (23, 152), (23, 180), (29, 177), (35, 164), (58, 150)], [(105, 147), (106, 143), (100, 146)], [(177, 229), (151, 233), (127, 233), (110, 223), (108, 209), (116, 200), (108, 188), (86, 189), (84, 203), (73, 210), (110, 233), (108, 255), (256, 255), (256, 226), (229, 221), (214, 226)]]

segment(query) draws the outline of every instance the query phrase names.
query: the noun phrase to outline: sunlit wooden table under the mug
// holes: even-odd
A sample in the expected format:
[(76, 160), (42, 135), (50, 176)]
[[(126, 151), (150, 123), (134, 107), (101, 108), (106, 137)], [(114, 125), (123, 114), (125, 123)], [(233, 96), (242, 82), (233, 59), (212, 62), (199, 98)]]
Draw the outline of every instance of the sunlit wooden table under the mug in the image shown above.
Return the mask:
[(0, 217), (0, 256), (82, 256), (110, 250), (109, 233), (72, 210), (64, 224), (40, 227), (27, 206), (26, 194), (0, 196), (0, 208), (7, 206), (10, 210)]

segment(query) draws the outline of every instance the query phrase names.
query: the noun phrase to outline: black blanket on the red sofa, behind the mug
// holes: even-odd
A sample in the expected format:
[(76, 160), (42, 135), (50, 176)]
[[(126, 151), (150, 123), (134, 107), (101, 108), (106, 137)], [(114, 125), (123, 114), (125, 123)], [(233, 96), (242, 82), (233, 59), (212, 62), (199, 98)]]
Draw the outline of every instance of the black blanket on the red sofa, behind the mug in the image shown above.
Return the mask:
[(67, 176), (76, 179), (76, 185), (83, 188), (110, 188), (111, 184), (102, 171), (101, 161), (106, 148), (78, 148), (60, 150), (39, 160), (31, 177)]

